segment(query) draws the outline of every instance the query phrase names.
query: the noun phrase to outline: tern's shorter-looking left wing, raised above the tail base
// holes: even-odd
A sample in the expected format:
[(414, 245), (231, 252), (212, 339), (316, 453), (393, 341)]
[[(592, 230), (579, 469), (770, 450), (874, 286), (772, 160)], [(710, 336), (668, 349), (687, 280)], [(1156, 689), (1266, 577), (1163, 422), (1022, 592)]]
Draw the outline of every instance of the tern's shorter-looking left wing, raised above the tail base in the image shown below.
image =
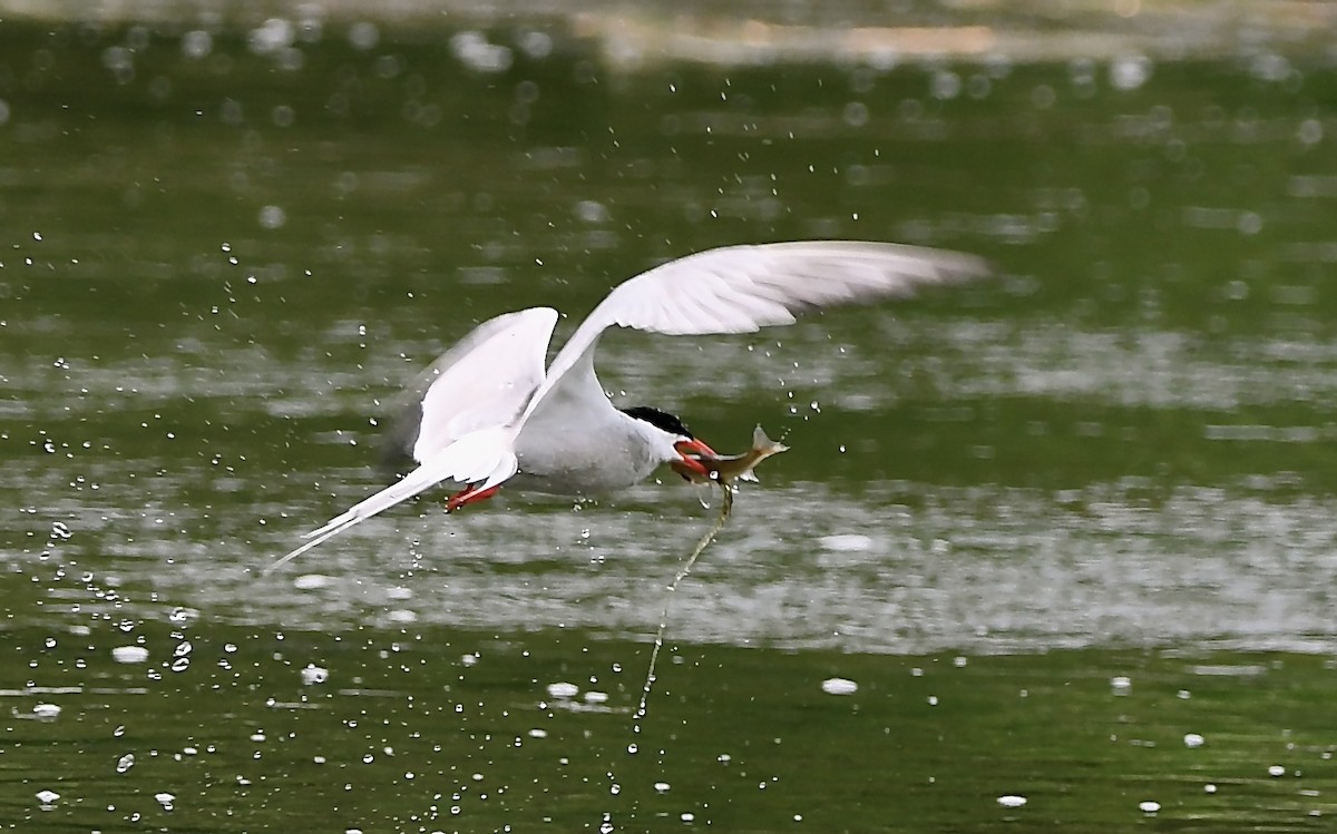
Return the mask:
[(433, 362), (413, 460), (431, 462), (471, 432), (513, 422), (543, 384), (556, 323), (551, 307), (507, 313), (479, 325)]

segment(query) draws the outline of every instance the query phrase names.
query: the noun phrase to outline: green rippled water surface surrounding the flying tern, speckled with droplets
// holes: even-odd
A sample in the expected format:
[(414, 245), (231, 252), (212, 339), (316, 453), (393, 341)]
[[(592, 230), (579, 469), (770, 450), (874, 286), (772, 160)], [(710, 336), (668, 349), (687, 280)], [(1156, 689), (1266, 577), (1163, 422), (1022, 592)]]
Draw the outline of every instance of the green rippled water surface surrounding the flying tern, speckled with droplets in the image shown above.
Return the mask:
[[(1330, 57), (193, 29), (0, 21), (0, 826), (1330, 827)], [(472, 323), (560, 337), (664, 258), (813, 237), (1000, 277), (606, 339), (619, 402), (793, 446), (639, 724), (715, 512), (673, 476), (429, 496), (258, 576), (378, 488), (373, 421)]]

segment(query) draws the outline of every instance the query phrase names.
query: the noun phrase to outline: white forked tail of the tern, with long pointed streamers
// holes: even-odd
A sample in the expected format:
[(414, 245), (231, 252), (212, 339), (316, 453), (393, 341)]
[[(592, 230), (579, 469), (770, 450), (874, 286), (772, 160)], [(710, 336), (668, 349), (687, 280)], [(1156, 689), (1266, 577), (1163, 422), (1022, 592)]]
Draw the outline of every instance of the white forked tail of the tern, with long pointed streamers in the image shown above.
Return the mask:
[(441, 481), (481, 484), (480, 489), (488, 489), (509, 478), (516, 473), (516, 469), (515, 429), (512, 426), (491, 426), (471, 432), (404, 476), (401, 481), (390, 484), (369, 499), (354, 504), (348, 512), (334, 516), (324, 527), (303, 535), (302, 539), (308, 540), (306, 544), (269, 565), (265, 572), (274, 571), (317, 544), (333, 539), (354, 524), (365, 521), (400, 501), (406, 501)]

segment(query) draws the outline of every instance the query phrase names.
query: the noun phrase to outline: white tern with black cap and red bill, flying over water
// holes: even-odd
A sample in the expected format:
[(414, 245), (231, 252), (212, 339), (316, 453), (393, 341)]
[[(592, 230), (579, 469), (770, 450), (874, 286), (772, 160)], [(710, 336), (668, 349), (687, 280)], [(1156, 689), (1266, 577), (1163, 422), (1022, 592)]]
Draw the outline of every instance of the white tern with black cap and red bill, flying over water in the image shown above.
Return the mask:
[(961, 253), (857, 241), (726, 246), (656, 266), (620, 286), (544, 368), (558, 321), (551, 307), (479, 325), (433, 362), (405, 438), (417, 468), (324, 527), (269, 569), (443, 481), (463, 484), (448, 511), (520, 489), (590, 495), (624, 489), (668, 462), (709, 477), (715, 453), (673, 414), (612, 405), (594, 370), (599, 337), (616, 325), (670, 335), (753, 333), (806, 310), (912, 295), (981, 278)]

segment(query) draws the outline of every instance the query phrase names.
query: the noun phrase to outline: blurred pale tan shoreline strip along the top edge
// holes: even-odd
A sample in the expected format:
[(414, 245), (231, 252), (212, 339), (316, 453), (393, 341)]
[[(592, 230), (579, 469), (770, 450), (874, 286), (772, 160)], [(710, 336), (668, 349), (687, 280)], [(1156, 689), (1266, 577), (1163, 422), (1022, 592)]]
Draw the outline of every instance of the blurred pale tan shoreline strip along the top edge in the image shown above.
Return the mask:
[(1144, 55), (1155, 60), (1255, 56), (1337, 60), (1329, 32), (1337, 4), (905, 1), (874, 3), (476, 3), (447, 0), (0, 0), (0, 23), (152, 25), (168, 31), (246, 31), (285, 21), (306, 36), (345, 36), (373, 24), (388, 40), (436, 37), (461, 28), (528, 27), (558, 43), (592, 45), (610, 65), (686, 61), (706, 65), (923, 60), (1039, 63)]

